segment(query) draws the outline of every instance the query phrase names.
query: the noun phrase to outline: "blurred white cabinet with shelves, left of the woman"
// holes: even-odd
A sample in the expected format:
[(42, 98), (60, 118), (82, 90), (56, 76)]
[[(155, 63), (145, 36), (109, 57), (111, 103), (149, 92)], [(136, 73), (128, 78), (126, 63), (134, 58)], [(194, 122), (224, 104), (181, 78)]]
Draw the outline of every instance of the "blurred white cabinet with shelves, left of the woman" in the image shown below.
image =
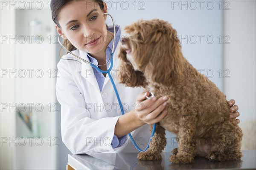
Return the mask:
[(56, 169), (60, 106), (55, 97), (56, 38), (51, 11), (15, 10), (13, 169)]

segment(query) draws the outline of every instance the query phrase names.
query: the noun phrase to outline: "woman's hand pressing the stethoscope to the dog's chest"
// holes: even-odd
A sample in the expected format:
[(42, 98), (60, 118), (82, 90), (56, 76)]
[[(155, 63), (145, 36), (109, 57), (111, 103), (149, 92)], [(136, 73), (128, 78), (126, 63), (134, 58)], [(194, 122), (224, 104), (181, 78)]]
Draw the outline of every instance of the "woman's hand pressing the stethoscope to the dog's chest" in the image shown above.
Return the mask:
[(148, 95), (149, 92), (143, 92), (137, 96), (134, 115), (137, 121), (141, 124), (152, 125), (159, 122), (166, 116), (167, 110), (165, 107), (168, 98), (166, 96), (162, 96), (158, 99), (156, 97), (146, 99), (146, 96)]

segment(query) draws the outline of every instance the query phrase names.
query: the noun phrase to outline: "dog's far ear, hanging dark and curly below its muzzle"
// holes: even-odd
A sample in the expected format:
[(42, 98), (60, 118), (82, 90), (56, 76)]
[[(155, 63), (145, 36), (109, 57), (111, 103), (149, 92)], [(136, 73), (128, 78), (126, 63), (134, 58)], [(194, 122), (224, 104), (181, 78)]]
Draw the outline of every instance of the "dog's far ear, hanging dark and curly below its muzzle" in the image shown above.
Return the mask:
[(146, 83), (143, 72), (134, 70), (134, 67), (126, 58), (125, 49), (120, 48), (118, 58), (120, 59), (118, 74), (119, 83), (129, 87), (145, 87)]

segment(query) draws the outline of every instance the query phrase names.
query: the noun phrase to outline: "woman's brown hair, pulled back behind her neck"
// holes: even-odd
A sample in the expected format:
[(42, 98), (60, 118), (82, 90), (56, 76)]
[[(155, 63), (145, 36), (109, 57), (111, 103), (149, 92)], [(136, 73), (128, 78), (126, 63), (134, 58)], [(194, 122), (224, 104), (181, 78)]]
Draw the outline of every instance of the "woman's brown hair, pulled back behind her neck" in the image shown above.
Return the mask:
[[(61, 9), (67, 5), (68, 3), (75, 1), (75, 0), (51, 0), (51, 11), (52, 11), (52, 20), (53, 22), (58, 26), (58, 28), (61, 28), (61, 26), (58, 23), (58, 14), (61, 11)], [(104, 9), (103, 0), (91, 0), (99, 4), (100, 9)], [(76, 49), (75, 46), (73, 46), (69, 40), (64, 40), (63, 45), (69, 50), (73, 51)]]

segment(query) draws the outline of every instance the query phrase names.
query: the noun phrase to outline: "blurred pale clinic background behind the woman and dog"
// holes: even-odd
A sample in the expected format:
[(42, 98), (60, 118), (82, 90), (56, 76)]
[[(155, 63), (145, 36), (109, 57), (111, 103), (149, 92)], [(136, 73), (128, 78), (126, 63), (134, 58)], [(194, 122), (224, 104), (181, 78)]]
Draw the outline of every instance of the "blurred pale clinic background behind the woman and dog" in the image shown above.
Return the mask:
[[(242, 150), (256, 150), (255, 0), (105, 0), (115, 23), (167, 20), (183, 55), (235, 99)], [(49, 0), (0, 1), (0, 169), (65, 169), (55, 97), (60, 45)], [(166, 151), (177, 145), (168, 135)], [(71, 154), (71, 153), (70, 153)]]

